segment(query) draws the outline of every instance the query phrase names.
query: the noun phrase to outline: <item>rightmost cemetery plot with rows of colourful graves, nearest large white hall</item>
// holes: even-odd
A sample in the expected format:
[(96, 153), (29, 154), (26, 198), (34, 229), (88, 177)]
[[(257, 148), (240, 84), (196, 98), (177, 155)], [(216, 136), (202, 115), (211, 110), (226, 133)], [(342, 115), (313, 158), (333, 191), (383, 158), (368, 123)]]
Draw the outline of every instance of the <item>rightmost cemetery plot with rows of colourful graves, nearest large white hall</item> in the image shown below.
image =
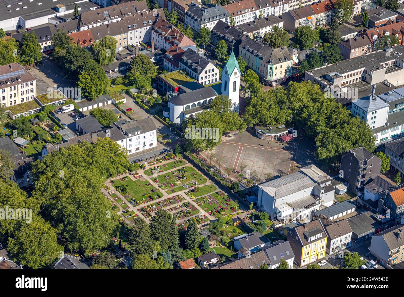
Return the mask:
[(240, 209), (237, 203), (227, 197), (222, 191), (197, 198), (194, 201), (209, 215), (213, 215), (216, 218), (220, 218)]

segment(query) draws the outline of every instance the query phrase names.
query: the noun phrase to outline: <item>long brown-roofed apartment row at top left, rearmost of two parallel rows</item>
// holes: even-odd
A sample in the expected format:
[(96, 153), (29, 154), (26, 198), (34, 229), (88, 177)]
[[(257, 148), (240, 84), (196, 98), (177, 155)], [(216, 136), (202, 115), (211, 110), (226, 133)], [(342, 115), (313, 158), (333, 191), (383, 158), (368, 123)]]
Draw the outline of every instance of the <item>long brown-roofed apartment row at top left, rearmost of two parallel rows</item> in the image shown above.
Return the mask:
[(123, 17), (135, 13), (148, 11), (147, 3), (143, 1), (130, 1), (105, 8), (80, 13), (78, 29), (80, 31), (93, 27), (107, 25), (121, 21)]

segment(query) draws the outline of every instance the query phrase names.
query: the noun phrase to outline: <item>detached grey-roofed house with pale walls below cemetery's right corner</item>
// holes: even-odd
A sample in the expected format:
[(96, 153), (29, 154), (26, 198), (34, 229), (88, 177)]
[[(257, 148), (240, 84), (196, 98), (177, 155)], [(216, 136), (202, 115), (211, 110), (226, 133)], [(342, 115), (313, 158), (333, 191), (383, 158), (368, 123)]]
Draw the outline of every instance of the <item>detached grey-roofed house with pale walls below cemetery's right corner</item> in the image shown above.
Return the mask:
[(238, 251), (238, 257), (251, 255), (257, 252), (260, 247), (269, 245), (271, 241), (259, 232), (243, 234), (233, 238), (233, 247)]

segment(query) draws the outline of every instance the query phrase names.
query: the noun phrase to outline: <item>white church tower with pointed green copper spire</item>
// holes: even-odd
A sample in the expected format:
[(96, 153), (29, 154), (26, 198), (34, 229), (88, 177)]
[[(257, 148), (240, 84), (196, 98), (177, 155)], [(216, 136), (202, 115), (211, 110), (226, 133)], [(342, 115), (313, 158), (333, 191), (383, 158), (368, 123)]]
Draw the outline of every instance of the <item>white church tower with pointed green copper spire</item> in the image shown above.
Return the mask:
[(222, 95), (229, 97), (237, 113), (240, 111), (240, 76), (240, 67), (232, 51), (222, 71)]

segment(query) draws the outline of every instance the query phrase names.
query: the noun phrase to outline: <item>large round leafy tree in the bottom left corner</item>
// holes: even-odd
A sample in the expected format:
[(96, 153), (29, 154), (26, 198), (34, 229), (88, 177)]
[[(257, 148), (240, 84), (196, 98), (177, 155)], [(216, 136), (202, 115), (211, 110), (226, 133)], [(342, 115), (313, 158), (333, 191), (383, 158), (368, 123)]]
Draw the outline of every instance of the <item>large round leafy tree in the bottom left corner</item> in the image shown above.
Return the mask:
[(17, 263), (38, 269), (52, 264), (63, 247), (57, 244), (56, 229), (35, 215), (8, 238), (7, 251)]

